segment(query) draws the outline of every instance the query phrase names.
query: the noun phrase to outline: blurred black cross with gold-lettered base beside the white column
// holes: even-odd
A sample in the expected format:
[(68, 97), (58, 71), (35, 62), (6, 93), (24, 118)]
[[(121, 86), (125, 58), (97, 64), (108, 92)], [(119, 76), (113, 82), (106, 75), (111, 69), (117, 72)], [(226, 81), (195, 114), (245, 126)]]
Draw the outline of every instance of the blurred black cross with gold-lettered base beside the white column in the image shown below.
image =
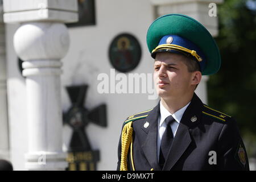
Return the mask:
[(72, 127), (73, 133), (69, 143), (69, 170), (96, 170), (96, 162), (100, 160), (100, 151), (92, 150), (85, 127), (89, 123), (106, 127), (106, 105), (102, 104), (92, 110), (84, 107), (84, 100), (88, 85), (67, 86), (67, 92), (72, 106), (64, 113), (64, 124)]

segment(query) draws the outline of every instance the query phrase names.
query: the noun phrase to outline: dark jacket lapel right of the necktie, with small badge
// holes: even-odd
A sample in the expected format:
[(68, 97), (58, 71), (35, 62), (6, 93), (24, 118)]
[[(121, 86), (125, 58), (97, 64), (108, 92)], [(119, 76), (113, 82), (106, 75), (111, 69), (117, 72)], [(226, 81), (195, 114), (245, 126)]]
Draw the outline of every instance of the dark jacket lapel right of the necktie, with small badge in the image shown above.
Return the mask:
[[(191, 104), (189, 104), (181, 118), (163, 170), (171, 170), (175, 163), (180, 159), (181, 155), (183, 155), (185, 150), (188, 148), (192, 141), (189, 128), (199, 124), (202, 105), (200, 98), (194, 94)], [(196, 117), (196, 121), (193, 120), (192, 122), (192, 117)]]

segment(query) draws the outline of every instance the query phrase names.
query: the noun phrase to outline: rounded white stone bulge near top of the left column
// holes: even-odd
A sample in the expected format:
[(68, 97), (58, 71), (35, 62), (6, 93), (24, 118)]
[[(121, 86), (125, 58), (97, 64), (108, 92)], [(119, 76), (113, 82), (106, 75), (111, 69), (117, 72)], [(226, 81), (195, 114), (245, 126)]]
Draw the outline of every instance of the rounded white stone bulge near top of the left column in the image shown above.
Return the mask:
[(60, 60), (68, 48), (68, 29), (63, 23), (23, 23), (14, 34), (15, 52), (24, 61)]

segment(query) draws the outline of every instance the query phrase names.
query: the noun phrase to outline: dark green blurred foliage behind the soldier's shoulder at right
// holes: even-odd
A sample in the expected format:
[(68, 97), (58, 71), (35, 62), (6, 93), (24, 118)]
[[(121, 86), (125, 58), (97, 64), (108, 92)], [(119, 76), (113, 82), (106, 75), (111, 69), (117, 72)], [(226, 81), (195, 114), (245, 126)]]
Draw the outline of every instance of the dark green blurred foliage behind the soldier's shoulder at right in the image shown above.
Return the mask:
[(225, 0), (218, 6), (222, 63), (210, 76), (208, 96), (209, 105), (236, 118), (248, 143), (256, 143), (256, 10), (246, 2)]

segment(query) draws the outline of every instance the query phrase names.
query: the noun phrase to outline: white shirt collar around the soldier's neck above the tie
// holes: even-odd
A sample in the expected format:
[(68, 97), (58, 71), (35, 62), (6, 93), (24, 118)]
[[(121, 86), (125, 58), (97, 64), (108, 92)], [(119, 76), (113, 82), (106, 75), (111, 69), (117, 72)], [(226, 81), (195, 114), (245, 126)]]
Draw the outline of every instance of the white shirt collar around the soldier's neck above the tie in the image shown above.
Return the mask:
[(159, 126), (162, 126), (164, 119), (166, 119), (169, 115), (172, 115), (172, 117), (175, 119), (175, 121), (177, 123), (180, 123), (181, 118), (189, 104), (190, 104), (190, 102), (188, 102), (188, 104), (185, 105), (184, 107), (182, 107), (181, 109), (177, 110), (174, 114), (171, 114), (166, 109), (166, 107), (163, 106), (162, 101), (160, 101), (160, 123), (159, 123)]

